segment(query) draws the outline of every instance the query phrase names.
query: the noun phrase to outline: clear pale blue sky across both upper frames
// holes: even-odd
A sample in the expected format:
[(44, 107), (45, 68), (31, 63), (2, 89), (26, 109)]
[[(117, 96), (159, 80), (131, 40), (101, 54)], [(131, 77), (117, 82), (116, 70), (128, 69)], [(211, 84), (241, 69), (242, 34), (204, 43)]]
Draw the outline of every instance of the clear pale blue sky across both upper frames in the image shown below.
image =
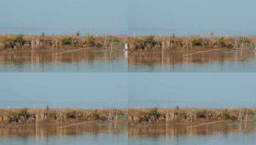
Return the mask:
[(256, 33), (255, 0), (0, 0), (0, 6), (0, 26), (111, 31), (115, 23), (130, 33), (167, 28), (241, 34), (245, 25), (248, 35)]

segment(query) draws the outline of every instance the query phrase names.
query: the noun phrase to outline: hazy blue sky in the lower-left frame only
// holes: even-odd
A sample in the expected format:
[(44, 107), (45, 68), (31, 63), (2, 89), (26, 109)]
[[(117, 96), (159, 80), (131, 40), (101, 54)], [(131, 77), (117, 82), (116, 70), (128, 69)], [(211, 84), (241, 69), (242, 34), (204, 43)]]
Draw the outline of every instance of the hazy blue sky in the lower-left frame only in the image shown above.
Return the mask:
[(122, 73), (0, 73), (0, 107), (7, 107), (3, 102), (9, 100), (16, 106), (19, 101), (37, 100), (73, 107), (93, 107), (93, 103), (111, 107), (118, 102), (123, 106), (128, 99), (127, 79)]

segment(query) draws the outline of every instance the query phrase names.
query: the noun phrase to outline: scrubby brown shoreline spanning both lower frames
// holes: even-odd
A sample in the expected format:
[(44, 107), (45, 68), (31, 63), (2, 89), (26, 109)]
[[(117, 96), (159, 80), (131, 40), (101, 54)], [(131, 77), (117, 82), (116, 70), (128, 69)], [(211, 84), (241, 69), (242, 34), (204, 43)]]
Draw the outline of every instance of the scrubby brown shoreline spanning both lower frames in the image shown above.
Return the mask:
[(83, 123), (128, 124), (129, 127), (208, 123), (256, 123), (256, 109), (129, 108), (129, 109), (0, 109), (0, 127), (70, 125)]

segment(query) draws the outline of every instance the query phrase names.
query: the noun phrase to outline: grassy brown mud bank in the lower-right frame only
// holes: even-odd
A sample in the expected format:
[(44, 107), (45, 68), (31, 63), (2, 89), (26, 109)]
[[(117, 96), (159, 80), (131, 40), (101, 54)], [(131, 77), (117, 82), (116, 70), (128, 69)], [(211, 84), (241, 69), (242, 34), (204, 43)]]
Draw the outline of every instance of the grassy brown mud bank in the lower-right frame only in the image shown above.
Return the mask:
[[(256, 123), (256, 109), (195, 109), (195, 108), (140, 108), (129, 109), (130, 127), (166, 124), (203, 124), (222, 121), (222, 123)], [(246, 119), (247, 118), (247, 119)]]

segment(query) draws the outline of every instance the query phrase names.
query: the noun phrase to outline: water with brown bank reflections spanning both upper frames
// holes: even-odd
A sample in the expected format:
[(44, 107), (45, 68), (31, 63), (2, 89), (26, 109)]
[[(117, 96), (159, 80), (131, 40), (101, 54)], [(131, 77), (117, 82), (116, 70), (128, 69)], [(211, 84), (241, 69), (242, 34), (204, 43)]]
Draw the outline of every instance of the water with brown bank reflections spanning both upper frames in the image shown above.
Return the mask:
[[(256, 72), (256, 52), (205, 52), (183, 56), (182, 52), (139, 54), (108, 50), (0, 54), (0, 72)], [(128, 57), (129, 56), (129, 57)]]

